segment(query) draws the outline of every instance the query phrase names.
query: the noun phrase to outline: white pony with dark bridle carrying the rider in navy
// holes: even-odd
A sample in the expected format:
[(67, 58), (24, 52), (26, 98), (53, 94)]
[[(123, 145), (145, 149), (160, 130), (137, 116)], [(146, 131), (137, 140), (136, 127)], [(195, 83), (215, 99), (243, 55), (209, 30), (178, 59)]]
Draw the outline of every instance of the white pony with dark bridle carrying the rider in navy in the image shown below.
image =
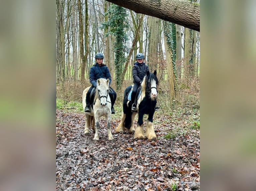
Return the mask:
[[(83, 92), (83, 108), (86, 107), (86, 93), (90, 87)], [(105, 116), (108, 130), (108, 140), (113, 140), (111, 133), (111, 100), (109, 93), (109, 79), (100, 78), (97, 80), (97, 86), (94, 96), (93, 108), (91, 112), (85, 112), (85, 134), (89, 133), (88, 126), (95, 132), (93, 140), (99, 140), (99, 118)]]

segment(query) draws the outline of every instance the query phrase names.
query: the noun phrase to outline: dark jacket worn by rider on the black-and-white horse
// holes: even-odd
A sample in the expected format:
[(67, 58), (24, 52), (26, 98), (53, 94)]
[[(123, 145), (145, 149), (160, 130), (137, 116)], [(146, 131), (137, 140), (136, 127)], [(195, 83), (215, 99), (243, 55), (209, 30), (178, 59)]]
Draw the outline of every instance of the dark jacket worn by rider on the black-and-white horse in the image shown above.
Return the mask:
[(148, 65), (146, 65), (144, 62), (142, 62), (141, 64), (138, 62), (135, 62), (133, 65), (134, 65), (132, 68), (133, 83), (140, 84), (144, 76), (147, 75), (147, 71), (149, 71)]

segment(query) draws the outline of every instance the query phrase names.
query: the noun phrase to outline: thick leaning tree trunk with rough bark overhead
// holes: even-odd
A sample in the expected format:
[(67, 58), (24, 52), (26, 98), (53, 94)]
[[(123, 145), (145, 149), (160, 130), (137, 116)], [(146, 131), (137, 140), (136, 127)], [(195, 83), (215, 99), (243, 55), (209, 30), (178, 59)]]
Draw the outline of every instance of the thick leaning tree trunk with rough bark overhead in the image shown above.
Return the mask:
[(107, 0), (116, 5), (200, 32), (200, 4), (186, 0)]

